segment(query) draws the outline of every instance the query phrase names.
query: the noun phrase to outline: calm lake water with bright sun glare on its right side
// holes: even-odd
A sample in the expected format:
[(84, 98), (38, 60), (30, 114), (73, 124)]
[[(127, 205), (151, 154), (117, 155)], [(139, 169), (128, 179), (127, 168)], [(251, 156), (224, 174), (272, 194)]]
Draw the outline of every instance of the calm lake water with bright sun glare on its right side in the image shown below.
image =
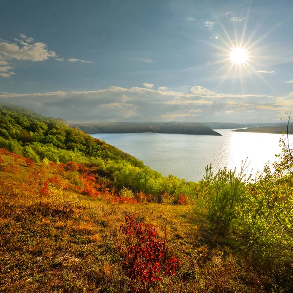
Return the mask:
[[(145, 165), (164, 176), (173, 174), (186, 180), (198, 181), (205, 167), (215, 170), (227, 166), (237, 170), (248, 157), (253, 173), (263, 170), (264, 164), (280, 153), (281, 134), (232, 132), (216, 130), (222, 136), (161, 134), (161, 133), (106, 133), (93, 134), (126, 153), (144, 161)], [(293, 142), (293, 135), (289, 136)]]

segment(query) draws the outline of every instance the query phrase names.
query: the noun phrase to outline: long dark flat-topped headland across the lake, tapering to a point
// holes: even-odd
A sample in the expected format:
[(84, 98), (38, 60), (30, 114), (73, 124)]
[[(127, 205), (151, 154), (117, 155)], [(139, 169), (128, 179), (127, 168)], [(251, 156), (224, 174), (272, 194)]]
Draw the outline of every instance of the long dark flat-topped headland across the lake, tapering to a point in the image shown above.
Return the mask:
[(71, 124), (85, 133), (176, 133), (198, 135), (221, 135), (199, 122), (109, 122)]

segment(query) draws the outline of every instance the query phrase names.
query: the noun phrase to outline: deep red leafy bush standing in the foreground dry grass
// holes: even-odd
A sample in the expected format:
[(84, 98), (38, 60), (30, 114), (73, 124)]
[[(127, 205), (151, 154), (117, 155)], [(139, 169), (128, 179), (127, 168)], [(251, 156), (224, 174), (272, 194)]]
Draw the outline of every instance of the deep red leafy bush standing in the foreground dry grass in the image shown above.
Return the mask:
[(126, 225), (120, 231), (127, 236), (126, 261), (123, 263), (132, 292), (149, 292), (161, 281), (162, 273), (175, 274), (179, 263), (171, 258), (164, 265), (166, 243), (157, 237), (156, 227), (136, 221), (133, 215), (125, 216)]

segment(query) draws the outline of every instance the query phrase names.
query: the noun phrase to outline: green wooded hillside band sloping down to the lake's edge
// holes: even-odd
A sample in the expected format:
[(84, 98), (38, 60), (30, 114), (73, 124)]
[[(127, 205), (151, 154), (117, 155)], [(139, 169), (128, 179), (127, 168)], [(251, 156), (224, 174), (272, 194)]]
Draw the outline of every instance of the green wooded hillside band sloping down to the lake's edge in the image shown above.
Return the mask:
[(135, 157), (68, 126), (61, 119), (10, 104), (0, 104), (1, 147), (37, 162), (47, 158), (57, 164), (92, 164), (117, 188), (143, 190), (156, 201), (161, 201), (165, 192), (177, 200), (180, 193), (191, 197), (196, 190), (194, 182), (163, 177)]

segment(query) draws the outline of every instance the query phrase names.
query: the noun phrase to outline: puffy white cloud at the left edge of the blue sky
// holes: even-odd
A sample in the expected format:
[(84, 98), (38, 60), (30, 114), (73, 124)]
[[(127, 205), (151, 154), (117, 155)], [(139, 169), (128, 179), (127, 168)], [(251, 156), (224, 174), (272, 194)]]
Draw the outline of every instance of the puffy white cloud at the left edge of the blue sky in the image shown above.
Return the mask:
[[(6, 67), (1, 67), (0, 76), (9, 77), (15, 72), (11, 63), (18, 60), (28, 60), (32, 62), (44, 61), (49, 58), (53, 58), (58, 61), (64, 61), (65, 58), (58, 57), (56, 52), (49, 51), (47, 44), (44, 42), (34, 42), (32, 37), (27, 37), (24, 34), (19, 34), (20, 40), (15, 39), (16, 42), (9, 42), (3, 39), (0, 39), (0, 65)], [(68, 58), (66, 59), (69, 62), (82, 62), (82, 63), (91, 63), (90, 61), (85, 61), (82, 59)]]

